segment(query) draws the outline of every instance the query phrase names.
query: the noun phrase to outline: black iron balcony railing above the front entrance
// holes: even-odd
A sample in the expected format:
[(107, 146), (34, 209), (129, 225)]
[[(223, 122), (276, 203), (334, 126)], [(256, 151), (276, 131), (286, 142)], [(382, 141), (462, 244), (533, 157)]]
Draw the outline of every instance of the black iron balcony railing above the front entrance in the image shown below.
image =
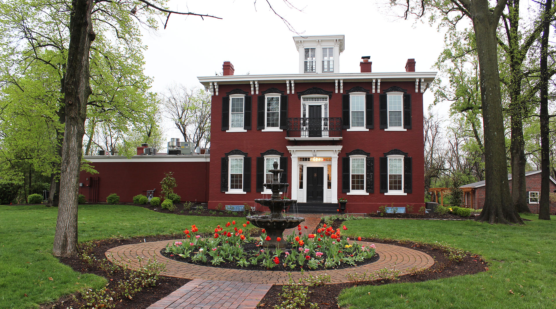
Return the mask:
[(288, 118), (286, 136), (290, 138), (340, 137), (342, 118)]

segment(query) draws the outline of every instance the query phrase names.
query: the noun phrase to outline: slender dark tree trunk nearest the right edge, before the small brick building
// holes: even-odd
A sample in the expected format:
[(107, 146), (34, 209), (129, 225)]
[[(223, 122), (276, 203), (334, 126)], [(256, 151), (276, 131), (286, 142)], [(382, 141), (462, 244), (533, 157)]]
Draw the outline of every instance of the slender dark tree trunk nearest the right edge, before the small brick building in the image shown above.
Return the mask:
[(552, 0), (544, 4), (543, 36), (540, 39), (540, 201), (539, 219), (550, 220), (550, 160), (548, 145), (548, 36)]

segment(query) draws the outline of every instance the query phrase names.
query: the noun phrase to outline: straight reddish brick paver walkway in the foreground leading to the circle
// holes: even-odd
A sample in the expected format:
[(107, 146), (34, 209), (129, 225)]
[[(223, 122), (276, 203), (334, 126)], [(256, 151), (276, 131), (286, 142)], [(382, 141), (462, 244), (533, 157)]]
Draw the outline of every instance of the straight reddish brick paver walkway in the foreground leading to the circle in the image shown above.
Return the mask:
[(195, 279), (147, 309), (253, 309), (272, 285)]

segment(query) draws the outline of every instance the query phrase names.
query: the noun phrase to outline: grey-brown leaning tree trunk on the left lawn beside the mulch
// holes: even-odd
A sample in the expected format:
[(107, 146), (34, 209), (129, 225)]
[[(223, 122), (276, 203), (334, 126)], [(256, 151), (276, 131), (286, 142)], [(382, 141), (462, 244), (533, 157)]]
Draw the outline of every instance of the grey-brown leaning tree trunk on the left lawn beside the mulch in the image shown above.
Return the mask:
[(89, 50), (95, 33), (91, 23), (92, 0), (74, 0), (69, 20), (69, 48), (64, 80), (66, 129), (62, 143), (62, 169), (53, 253), (77, 254), (77, 198), (89, 85)]

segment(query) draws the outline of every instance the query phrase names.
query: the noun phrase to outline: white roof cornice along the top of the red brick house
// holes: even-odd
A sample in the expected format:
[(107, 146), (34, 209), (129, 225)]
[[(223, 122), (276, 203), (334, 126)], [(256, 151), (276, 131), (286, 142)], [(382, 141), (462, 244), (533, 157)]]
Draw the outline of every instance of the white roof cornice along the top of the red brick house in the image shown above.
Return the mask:
[(286, 80), (295, 80), (298, 83), (307, 82), (332, 82), (343, 79), (345, 82), (372, 82), (380, 79), (381, 82), (405, 81), (414, 82), (416, 78), (423, 78), (425, 83), (430, 83), (436, 77), (436, 72), (390, 72), (390, 73), (321, 73), (321, 74), (266, 74), (266, 75), (226, 75), (197, 77), (205, 87), (211, 82), (219, 84), (250, 84), (252, 80), (260, 83), (285, 83)]

